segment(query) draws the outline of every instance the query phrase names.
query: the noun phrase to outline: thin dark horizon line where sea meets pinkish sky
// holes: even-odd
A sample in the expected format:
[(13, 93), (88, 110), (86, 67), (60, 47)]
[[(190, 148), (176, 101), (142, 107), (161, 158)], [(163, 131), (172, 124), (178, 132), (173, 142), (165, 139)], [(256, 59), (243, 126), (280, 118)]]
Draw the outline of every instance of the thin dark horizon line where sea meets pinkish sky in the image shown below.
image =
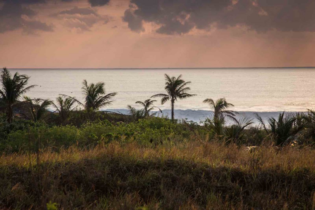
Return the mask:
[(311, 69), (315, 66), (288, 66), (288, 67), (167, 67), (167, 68), (8, 68), (8, 69)]

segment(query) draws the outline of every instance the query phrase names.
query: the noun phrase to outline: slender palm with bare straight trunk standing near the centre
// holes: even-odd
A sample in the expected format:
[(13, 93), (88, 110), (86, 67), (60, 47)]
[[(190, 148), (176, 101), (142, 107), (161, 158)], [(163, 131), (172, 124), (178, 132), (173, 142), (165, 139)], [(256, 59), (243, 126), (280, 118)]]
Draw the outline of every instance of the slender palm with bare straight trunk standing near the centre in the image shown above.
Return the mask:
[[(176, 77), (169, 77), (169, 75), (164, 74), (165, 76), (165, 87), (164, 89), (166, 90), (167, 94), (160, 93), (153, 95), (153, 98), (156, 97), (162, 97), (161, 99), (161, 104), (163, 105), (164, 103), (171, 101), (171, 115), (172, 115), (172, 120), (174, 120), (174, 103), (177, 101), (177, 99), (186, 99), (189, 97), (196, 96), (194, 94), (189, 94), (187, 91), (190, 91), (190, 87), (187, 87), (187, 85), (191, 82), (185, 82), (184, 80), (181, 79), (182, 75), (179, 75), (177, 78)], [(151, 97), (151, 98), (152, 98)]]

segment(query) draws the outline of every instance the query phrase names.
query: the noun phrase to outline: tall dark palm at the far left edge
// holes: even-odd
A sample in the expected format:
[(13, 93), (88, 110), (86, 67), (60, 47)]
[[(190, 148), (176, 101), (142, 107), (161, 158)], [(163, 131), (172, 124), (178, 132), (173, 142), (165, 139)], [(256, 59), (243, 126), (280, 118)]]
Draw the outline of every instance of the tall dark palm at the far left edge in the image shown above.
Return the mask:
[(3, 68), (1, 72), (0, 97), (6, 110), (7, 122), (10, 124), (13, 120), (13, 105), (18, 102), (24, 93), (35, 86), (27, 86), (29, 78), (27, 75), (20, 75), (18, 72), (12, 77), (7, 68)]

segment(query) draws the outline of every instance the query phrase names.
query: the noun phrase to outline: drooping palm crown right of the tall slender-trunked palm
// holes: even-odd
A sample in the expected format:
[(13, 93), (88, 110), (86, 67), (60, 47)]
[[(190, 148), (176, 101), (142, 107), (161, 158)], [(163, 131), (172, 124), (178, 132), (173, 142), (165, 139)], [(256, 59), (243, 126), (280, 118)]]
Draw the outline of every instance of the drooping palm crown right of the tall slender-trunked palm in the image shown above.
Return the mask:
[(210, 108), (213, 110), (214, 119), (223, 119), (224, 122), (226, 118), (229, 118), (235, 122), (238, 122), (235, 118), (238, 112), (226, 110), (227, 108), (234, 107), (234, 105), (232, 103), (226, 102), (225, 98), (219, 98), (216, 101), (211, 98), (207, 98), (203, 101), (203, 103), (208, 103)]

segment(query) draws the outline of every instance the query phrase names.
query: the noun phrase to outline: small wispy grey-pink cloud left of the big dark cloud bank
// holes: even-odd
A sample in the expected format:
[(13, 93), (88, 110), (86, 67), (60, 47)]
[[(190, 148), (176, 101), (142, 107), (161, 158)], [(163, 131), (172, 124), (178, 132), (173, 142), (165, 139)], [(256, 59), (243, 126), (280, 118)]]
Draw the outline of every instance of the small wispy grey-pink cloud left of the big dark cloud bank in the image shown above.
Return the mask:
[(110, 20), (109, 16), (100, 15), (93, 8), (79, 8), (77, 6), (60, 11), (52, 16), (62, 19), (65, 26), (78, 29), (80, 32), (91, 30), (94, 24), (98, 22), (106, 24)]

